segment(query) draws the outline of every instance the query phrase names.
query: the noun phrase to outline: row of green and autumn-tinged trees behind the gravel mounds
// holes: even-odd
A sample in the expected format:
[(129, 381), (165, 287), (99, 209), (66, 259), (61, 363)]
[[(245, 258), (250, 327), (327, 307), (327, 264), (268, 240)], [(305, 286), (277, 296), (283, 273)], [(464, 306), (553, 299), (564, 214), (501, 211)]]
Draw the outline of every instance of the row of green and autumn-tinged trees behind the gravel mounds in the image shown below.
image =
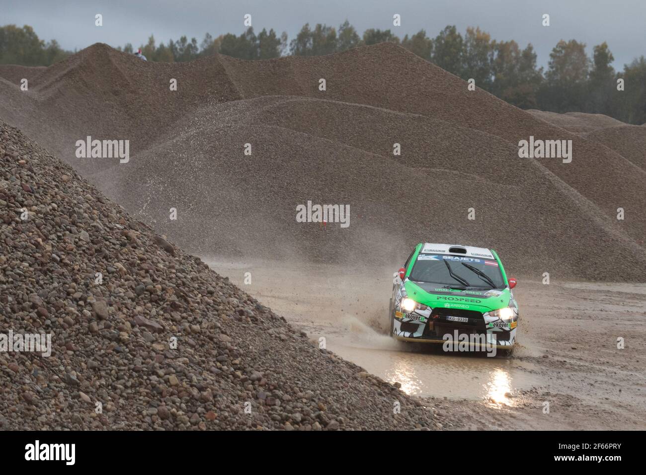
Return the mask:
[[(149, 61), (174, 62), (216, 53), (240, 59), (317, 56), (384, 41), (401, 45), (460, 78), (474, 79), (477, 87), (521, 109), (591, 112), (627, 123), (646, 122), (646, 59), (641, 56), (615, 71), (611, 66), (614, 57), (605, 42), (594, 46), (589, 57), (585, 43), (561, 40), (550, 52), (547, 69), (537, 66), (531, 44), (522, 48), (514, 40), (497, 41), (477, 27), (466, 28), (463, 35), (454, 25), (435, 37), (420, 30), (400, 38), (390, 29), (370, 28), (359, 35), (347, 20), (339, 28), (307, 23), (289, 42), (285, 32), (279, 35), (273, 29), (263, 29), (256, 34), (249, 27), (239, 36), (207, 33), (200, 43), (187, 36), (156, 43), (151, 35), (140, 48)], [(130, 43), (117, 49), (135, 50)], [(62, 50), (56, 40), (45, 43), (39, 39), (30, 26), (0, 27), (0, 64), (50, 65), (69, 54), (72, 52)], [(617, 89), (619, 79), (623, 79), (625, 90)]]

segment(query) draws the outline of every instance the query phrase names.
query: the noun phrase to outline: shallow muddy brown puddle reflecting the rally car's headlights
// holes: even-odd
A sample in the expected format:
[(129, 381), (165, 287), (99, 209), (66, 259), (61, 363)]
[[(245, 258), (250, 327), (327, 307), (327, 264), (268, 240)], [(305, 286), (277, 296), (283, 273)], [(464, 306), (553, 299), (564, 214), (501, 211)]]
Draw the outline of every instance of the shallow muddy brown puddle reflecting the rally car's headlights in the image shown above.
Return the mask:
[[(388, 276), (390, 268), (348, 275), (337, 266), (282, 265), (278, 278), (276, 266), (265, 263), (211, 261), (211, 266), (311, 339), (324, 337), (329, 350), (384, 381), (399, 382), (408, 394), (513, 406), (519, 390), (541, 385), (527, 363), (513, 357), (447, 355), (441, 345), (402, 343), (375, 331), (382, 313), (385, 321), (391, 286), (391, 277), (379, 277)], [(253, 275), (253, 285), (244, 284), (244, 271)]]

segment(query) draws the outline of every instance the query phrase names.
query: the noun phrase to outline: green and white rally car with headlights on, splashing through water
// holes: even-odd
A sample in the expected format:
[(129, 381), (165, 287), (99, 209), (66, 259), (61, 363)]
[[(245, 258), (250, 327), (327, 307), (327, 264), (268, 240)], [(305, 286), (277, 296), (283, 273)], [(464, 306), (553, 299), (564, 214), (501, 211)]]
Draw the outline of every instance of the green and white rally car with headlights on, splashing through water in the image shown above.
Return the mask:
[(494, 249), (417, 244), (393, 276), (390, 334), (402, 341), (444, 343), (479, 335), (487, 345), (512, 352), (518, 304)]

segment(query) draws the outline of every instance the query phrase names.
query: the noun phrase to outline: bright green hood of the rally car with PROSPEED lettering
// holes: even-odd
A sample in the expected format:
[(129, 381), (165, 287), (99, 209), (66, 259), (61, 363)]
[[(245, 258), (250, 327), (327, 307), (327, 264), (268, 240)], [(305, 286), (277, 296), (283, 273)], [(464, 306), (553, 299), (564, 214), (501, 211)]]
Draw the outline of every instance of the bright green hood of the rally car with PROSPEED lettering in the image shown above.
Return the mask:
[(461, 308), (484, 313), (509, 305), (511, 293), (508, 288), (492, 290), (450, 290), (441, 284), (406, 280), (404, 288), (408, 297), (431, 308)]

